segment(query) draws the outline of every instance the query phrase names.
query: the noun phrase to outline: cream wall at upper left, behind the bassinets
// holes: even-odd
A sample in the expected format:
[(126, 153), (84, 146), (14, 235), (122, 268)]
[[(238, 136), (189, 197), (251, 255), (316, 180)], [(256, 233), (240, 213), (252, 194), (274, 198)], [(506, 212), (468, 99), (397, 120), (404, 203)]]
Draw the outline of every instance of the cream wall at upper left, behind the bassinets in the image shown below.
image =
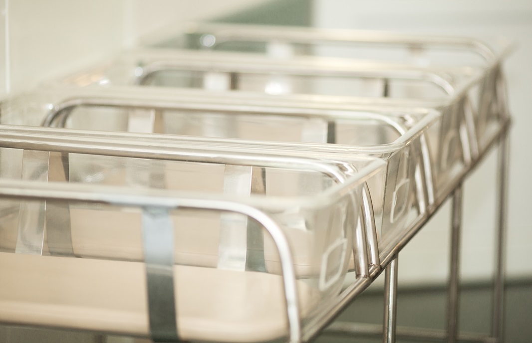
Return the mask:
[(177, 29), (261, 2), (0, 0), (0, 94), (79, 69), (162, 27)]

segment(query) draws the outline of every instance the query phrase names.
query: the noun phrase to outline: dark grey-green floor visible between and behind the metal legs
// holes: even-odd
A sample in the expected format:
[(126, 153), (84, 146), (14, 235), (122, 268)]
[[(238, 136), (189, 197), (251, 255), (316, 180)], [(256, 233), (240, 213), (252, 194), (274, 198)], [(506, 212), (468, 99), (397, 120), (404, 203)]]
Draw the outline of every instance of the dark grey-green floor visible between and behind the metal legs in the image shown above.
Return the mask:
[[(466, 285), (461, 289), (459, 328), (464, 332), (489, 333), (491, 289), (488, 285)], [(508, 282), (506, 286), (506, 343), (532, 341), (532, 280)], [(400, 290), (397, 299), (397, 325), (428, 329), (445, 328), (446, 292), (443, 287)], [(381, 324), (383, 294), (367, 291), (340, 315), (339, 320)], [(381, 342), (382, 339), (340, 338), (322, 334), (319, 343)], [(408, 342), (408, 340), (398, 340)]]

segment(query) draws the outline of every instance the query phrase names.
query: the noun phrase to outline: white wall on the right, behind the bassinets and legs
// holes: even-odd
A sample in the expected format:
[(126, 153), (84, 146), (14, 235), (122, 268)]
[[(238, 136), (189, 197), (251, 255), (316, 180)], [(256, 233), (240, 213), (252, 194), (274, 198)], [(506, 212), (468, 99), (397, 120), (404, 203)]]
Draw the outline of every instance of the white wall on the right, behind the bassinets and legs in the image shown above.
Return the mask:
[[(507, 270), (511, 278), (530, 277), (532, 224), (528, 215), (532, 178), (532, 2), (526, 0), (315, 0), (318, 27), (394, 30), (422, 33), (493, 36), (514, 39), (519, 49), (505, 63), (510, 108), (514, 118), (511, 138), (509, 237)], [(464, 190), (462, 276), (486, 279), (493, 271), (496, 154), (467, 181)], [(400, 254), (403, 282), (438, 282), (447, 275), (450, 206), (442, 211)]]

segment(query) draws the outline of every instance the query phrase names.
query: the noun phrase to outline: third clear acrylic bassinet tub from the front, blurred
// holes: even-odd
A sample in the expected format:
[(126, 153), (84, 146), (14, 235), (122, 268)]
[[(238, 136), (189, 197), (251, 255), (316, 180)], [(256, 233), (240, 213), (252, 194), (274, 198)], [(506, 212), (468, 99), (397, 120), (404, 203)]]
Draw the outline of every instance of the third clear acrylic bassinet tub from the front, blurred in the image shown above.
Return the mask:
[(473, 159), (509, 119), (502, 72), (500, 68), (488, 72), (485, 66), (421, 67), (336, 57), (271, 58), (144, 49), (59, 83), (245, 90), (275, 96), (307, 95), (305, 101), (317, 102), (327, 96), (390, 98), (390, 105), (405, 101), (409, 106), (437, 108), (453, 118), (460, 117)]

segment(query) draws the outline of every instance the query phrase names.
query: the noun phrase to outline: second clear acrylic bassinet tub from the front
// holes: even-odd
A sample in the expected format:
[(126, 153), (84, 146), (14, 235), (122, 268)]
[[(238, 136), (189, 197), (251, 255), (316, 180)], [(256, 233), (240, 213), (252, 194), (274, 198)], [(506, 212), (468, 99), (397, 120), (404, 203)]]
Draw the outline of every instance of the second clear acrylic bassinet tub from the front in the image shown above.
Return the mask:
[(138, 87), (63, 88), (11, 98), (0, 106), (0, 120), (180, 135), (138, 136), (157, 139), (154, 144), (202, 141), (220, 147), (236, 142), (257, 150), (292, 148), (311, 156), (342, 152), (383, 158), (388, 163), (386, 186), (369, 185), (372, 198), (384, 196), (384, 206), (373, 206), (383, 252), (393, 249), (465, 166), (459, 140), (448, 139), (458, 132), (459, 121), (445, 121), (448, 117), (434, 111), (362, 105), (276, 106), (268, 98), (258, 103), (239, 97), (240, 93), (228, 94), (224, 103), (211, 94)]

